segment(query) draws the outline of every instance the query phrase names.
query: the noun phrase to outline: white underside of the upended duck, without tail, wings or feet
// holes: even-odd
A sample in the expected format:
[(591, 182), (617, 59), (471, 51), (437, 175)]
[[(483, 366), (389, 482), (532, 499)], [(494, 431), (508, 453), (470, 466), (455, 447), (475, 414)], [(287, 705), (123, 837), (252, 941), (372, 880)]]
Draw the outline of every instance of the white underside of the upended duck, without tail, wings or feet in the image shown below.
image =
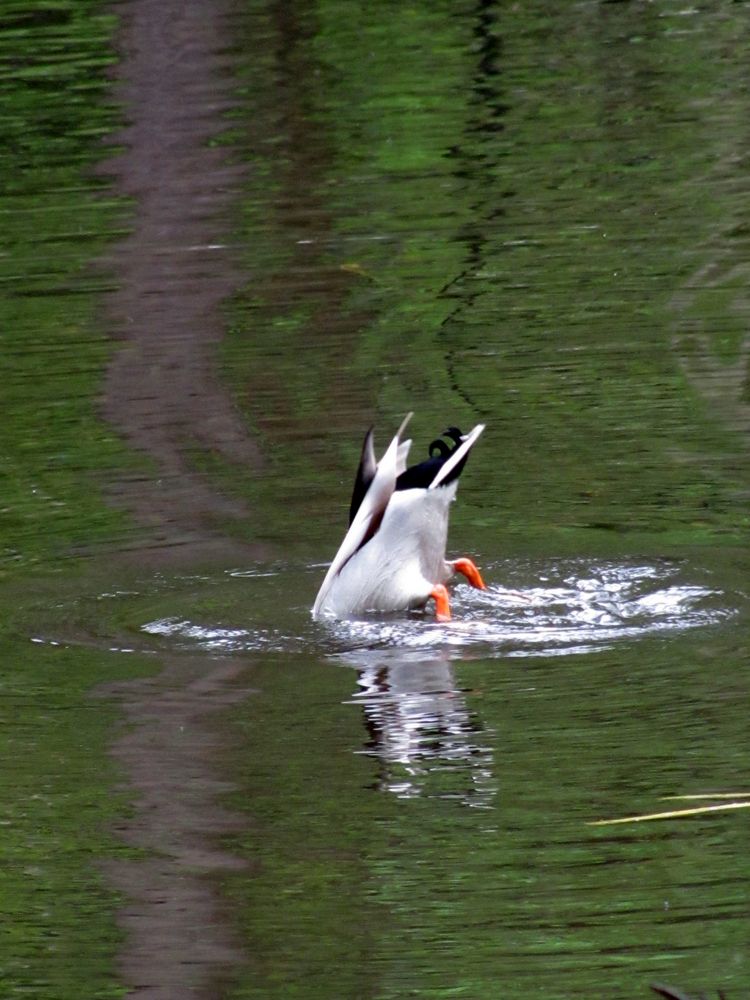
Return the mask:
[(453, 573), (445, 546), (457, 485), (393, 493), (375, 535), (323, 582), (313, 615), (346, 618), (424, 607), (435, 585)]

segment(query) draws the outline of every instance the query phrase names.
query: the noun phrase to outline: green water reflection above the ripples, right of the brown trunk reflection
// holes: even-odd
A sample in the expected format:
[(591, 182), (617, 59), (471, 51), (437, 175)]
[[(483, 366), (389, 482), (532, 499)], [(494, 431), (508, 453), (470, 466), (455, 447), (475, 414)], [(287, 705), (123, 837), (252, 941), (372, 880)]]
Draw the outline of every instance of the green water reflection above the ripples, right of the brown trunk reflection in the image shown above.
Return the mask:
[[(503, 541), (743, 538), (745, 440), (689, 375), (697, 331), (714, 396), (746, 406), (746, 387), (730, 398), (742, 293), (721, 275), (693, 289), (744, 260), (744, 175), (722, 176), (742, 130), (718, 141), (715, 103), (744, 12), (347, 9), (259, 12), (275, 42), (248, 82), (250, 111), (274, 88), (277, 110), (251, 149), (253, 284), (227, 365), (292, 499), (343, 504), (351, 427), (373, 412), (387, 434), (414, 409), (427, 438), (449, 411), (489, 424), (468, 502), (493, 524), (500, 508)], [(722, 100), (725, 128), (742, 101)], [(252, 489), (267, 500), (278, 481)], [(283, 519), (263, 530), (291, 541)]]

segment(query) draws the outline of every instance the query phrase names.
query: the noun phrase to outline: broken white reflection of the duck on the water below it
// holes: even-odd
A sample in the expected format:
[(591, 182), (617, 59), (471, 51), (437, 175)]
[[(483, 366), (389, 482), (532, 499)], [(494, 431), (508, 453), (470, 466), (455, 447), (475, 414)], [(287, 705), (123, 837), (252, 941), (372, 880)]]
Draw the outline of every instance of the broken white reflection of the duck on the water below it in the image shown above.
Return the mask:
[(488, 734), (466, 705), (449, 655), (360, 650), (346, 659), (359, 669), (352, 703), (364, 711), (369, 738), (362, 753), (380, 762), (379, 788), (400, 798), (452, 798), (492, 808)]

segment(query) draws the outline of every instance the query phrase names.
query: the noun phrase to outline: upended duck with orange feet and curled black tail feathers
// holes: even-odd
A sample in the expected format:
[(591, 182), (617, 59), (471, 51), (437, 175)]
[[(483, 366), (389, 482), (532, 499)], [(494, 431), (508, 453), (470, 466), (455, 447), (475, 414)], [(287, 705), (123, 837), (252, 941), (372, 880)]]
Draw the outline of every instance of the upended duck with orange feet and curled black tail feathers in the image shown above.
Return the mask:
[(432, 442), (425, 461), (407, 467), (412, 442), (402, 437), (412, 416), (406, 415), (380, 461), (374, 428), (365, 434), (349, 528), (315, 598), (315, 619), (418, 610), (434, 601), (437, 621), (447, 622), (452, 616), (446, 584), (455, 573), (485, 589), (472, 559), (446, 559), (449, 508), (485, 425), (468, 434), (449, 427)]

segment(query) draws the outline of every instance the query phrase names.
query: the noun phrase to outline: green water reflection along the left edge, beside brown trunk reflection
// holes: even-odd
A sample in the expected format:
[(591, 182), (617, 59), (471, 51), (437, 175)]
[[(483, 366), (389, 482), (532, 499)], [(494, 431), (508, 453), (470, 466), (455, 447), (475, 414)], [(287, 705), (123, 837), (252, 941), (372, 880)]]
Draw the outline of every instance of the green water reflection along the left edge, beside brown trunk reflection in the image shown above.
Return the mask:
[(106, 282), (90, 268), (120, 220), (90, 173), (114, 122), (113, 27), (88, 0), (0, 11), (0, 578), (15, 580), (0, 625), (4, 997), (122, 995), (118, 901), (99, 866), (123, 853), (108, 825), (126, 798), (107, 757), (117, 713), (90, 692), (143, 665), (30, 641), (35, 564), (57, 574), (55, 607), (71, 547), (122, 524), (100, 494), (123, 456), (96, 416), (109, 348), (93, 322)]

